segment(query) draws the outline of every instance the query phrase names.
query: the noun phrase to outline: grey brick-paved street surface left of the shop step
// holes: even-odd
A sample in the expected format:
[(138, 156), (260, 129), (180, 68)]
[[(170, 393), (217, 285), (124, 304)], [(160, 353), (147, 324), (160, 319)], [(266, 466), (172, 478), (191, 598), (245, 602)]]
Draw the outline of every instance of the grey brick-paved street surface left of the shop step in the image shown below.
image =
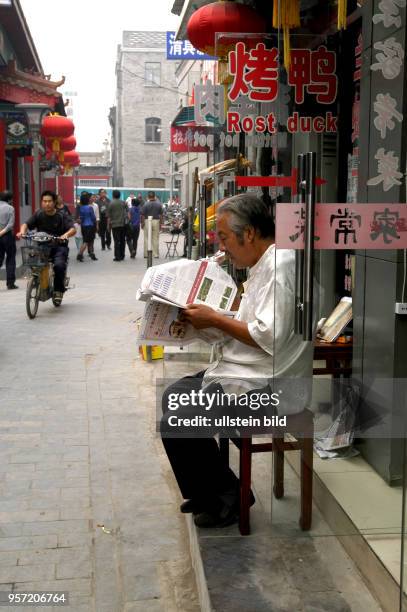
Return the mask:
[(141, 247), (116, 263), (97, 243), (80, 264), (71, 245), (75, 288), (33, 321), (24, 279), (0, 283), (0, 591), (65, 590), (75, 612), (199, 609), (155, 434), (163, 362), (135, 344)]

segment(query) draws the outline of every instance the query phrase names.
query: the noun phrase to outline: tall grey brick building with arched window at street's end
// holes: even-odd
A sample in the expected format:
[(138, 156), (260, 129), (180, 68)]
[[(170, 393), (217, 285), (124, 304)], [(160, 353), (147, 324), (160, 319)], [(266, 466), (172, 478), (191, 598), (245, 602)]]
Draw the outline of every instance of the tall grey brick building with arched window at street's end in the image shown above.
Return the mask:
[(109, 116), (115, 185), (168, 186), (169, 125), (178, 100), (175, 68), (166, 58), (165, 32), (123, 32), (117, 100)]

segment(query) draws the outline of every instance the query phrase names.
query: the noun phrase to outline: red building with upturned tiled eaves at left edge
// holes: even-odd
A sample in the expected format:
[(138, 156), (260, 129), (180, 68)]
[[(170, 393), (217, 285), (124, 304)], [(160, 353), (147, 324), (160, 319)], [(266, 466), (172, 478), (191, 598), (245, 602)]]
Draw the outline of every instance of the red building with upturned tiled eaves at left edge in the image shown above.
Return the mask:
[(33, 158), (24, 113), (19, 103), (42, 103), (65, 114), (57, 91), (64, 79), (44, 75), (18, 0), (0, 6), (0, 190), (14, 194), (16, 228), (35, 210)]

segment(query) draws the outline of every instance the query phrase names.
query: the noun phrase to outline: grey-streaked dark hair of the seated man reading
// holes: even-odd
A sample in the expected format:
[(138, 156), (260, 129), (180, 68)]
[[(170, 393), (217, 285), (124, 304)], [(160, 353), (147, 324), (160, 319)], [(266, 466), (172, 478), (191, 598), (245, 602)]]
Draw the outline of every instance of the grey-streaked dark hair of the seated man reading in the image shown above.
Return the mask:
[(271, 213), (263, 200), (250, 194), (240, 193), (228, 198), (219, 206), (217, 214), (229, 213), (229, 227), (239, 240), (243, 240), (245, 229), (252, 227), (261, 238), (274, 238), (275, 226)]

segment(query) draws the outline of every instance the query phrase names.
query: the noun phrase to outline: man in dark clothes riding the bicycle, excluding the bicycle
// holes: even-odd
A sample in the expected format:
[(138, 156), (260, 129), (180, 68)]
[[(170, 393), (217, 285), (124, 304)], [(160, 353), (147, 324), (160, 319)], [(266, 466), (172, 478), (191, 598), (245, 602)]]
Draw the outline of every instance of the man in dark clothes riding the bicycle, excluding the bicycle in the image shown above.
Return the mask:
[[(62, 240), (67, 240), (76, 234), (73, 220), (70, 216), (64, 215), (56, 208), (57, 196), (53, 191), (43, 191), (41, 194), (41, 210), (37, 210), (20, 227), (17, 238), (25, 236), (27, 230), (37, 230), (46, 232), (51, 236), (58, 236)], [(65, 273), (68, 265), (68, 246), (63, 244), (53, 246), (50, 256), (54, 264), (54, 298), (62, 301), (62, 294), (65, 291)]]

